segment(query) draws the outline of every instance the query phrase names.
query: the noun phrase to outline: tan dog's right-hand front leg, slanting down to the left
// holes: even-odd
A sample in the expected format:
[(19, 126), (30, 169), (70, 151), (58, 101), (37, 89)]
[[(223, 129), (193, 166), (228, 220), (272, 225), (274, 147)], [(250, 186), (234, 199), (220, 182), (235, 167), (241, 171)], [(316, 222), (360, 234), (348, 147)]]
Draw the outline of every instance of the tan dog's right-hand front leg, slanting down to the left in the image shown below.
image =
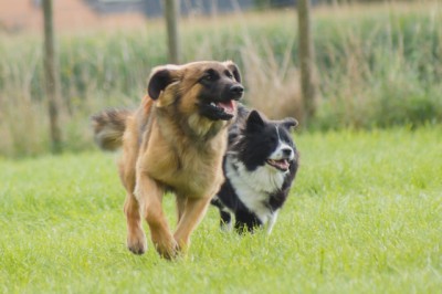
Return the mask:
[(181, 250), (186, 250), (190, 245), (190, 234), (204, 217), (210, 199), (210, 197), (187, 198), (185, 210), (173, 234)]

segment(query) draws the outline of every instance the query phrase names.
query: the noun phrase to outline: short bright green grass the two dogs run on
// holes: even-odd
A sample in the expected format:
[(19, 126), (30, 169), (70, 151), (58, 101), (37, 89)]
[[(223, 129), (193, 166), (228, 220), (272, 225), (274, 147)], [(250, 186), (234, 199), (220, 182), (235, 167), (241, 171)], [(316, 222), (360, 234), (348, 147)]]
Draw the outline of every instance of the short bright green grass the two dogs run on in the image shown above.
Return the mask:
[(439, 293), (441, 137), (296, 134), (301, 169), (272, 235), (222, 233), (210, 209), (176, 262), (125, 249), (116, 156), (1, 159), (0, 292)]

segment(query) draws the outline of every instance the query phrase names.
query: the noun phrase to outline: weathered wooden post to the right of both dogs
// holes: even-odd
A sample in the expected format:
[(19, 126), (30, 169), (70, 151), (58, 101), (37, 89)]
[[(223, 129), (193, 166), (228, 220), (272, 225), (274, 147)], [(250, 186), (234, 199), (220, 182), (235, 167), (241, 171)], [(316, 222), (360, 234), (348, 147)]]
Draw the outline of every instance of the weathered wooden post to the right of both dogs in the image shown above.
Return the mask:
[(311, 0), (297, 1), (299, 28), (301, 91), (304, 107), (304, 122), (313, 118), (316, 112), (316, 84), (314, 48), (311, 31)]

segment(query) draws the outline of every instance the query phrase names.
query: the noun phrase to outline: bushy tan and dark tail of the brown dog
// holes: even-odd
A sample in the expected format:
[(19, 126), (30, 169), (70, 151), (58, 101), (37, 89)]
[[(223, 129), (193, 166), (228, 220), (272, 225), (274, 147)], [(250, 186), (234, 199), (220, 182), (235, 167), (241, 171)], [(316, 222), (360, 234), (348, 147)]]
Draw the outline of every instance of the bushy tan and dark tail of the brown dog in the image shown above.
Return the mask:
[(123, 144), (126, 119), (131, 114), (125, 109), (106, 109), (92, 116), (94, 139), (104, 150), (116, 150)]

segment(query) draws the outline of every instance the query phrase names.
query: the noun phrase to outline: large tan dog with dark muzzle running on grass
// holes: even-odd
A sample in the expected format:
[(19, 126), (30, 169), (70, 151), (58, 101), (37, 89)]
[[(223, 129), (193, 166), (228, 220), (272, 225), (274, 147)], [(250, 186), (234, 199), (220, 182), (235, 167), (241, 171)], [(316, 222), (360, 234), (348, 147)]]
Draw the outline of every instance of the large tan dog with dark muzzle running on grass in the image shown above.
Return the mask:
[[(127, 246), (146, 251), (141, 216), (165, 258), (189, 246), (189, 238), (223, 182), (222, 158), (230, 120), (243, 94), (232, 62), (194, 62), (154, 69), (148, 95), (134, 113), (106, 111), (93, 116), (103, 149), (123, 144), (119, 175), (127, 196)], [(177, 199), (172, 234), (161, 208), (165, 191)]]

